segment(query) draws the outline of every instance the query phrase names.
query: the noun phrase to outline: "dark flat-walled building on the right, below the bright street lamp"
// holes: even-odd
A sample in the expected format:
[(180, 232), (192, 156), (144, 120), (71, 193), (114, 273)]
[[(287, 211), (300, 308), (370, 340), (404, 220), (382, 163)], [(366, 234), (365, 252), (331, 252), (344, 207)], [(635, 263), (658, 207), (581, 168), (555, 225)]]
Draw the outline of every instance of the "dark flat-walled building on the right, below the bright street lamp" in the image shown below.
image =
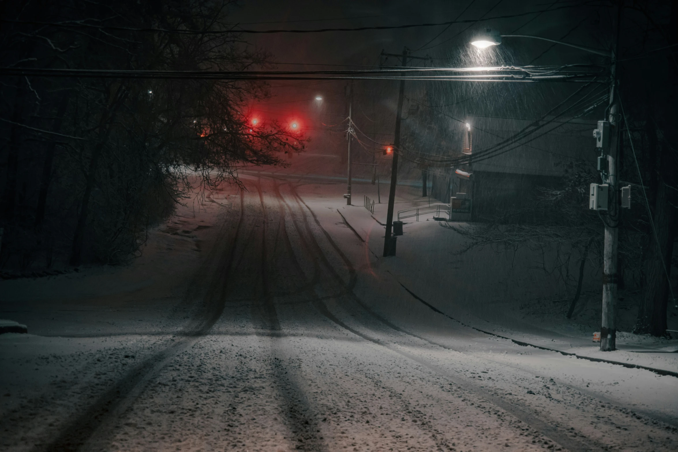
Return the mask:
[(538, 187), (561, 183), (565, 163), (593, 165), (597, 157), (591, 136), (596, 124), (588, 119), (467, 115), (459, 127), (458, 148), (450, 155), (468, 155), (470, 162), (429, 169), (431, 195), (444, 203), (452, 199), (452, 220), (480, 221), (523, 207)]

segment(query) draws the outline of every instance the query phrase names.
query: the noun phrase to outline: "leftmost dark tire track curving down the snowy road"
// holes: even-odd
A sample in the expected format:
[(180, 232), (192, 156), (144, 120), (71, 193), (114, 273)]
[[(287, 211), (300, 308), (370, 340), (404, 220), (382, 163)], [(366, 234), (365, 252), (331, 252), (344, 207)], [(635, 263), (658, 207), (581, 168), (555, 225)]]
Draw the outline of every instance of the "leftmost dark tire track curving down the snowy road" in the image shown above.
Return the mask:
[[(212, 273), (210, 285), (203, 297), (204, 304), (188, 322), (178, 335), (182, 337), (173, 340), (174, 344), (168, 346), (160, 352), (144, 359), (142, 363), (134, 367), (131, 371), (119, 379), (104, 394), (98, 396), (96, 402), (89, 405), (80, 415), (61, 429), (61, 434), (46, 445), (35, 445), (31, 451), (64, 451), (75, 452), (92, 446), (98, 449), (105, 449), (106, 437), (108, 431), (112, 428), (113, 419), (122, 415), (134, 399), (146, 388), (148, 382), (157, 373), (167, 365), (179, 353), (192, 346), (201, 336), (205, 335), (214, 323), (224, 312), (225, 300), (224, 294), (228, 285), (228, 274), (233, 269), (233, 258), (235, 247), (241, 233), (243, 224), (244, 194), (240, 192), (239, 219), (233, 238), (226, 249), (215, 247), (214, 253), (210, 256), (197, 273), (193, 284), (189, 287), (186, 300), (191, 298), (191, 291), (195, 289), (204, 280), (203, 270), (207, 264), (211, 264), (214, 258), (218, 258), (216, 269)], [(224, 231), (226, 235), (226, 231)], [(225, 253), (223, 251), (226, 251)], [(220, 257), (218, 254), (220, 253)]]

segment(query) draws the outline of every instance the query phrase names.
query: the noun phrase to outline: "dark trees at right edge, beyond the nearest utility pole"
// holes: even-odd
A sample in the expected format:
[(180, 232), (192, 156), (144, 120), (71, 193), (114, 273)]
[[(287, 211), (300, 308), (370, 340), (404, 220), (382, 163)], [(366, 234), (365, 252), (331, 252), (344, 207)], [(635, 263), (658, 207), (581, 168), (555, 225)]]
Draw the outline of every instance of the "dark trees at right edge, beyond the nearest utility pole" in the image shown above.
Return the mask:
[(631, 3), (620, 43), (620, 178), (633, 182), (640, 207), (622, 221), (644, 236), (635, 243), (642, 255), (635, 332), (665, 335), (668, 302), (678, 304), (670, 287), (671, 267), (678, 266), (678, 3)]

